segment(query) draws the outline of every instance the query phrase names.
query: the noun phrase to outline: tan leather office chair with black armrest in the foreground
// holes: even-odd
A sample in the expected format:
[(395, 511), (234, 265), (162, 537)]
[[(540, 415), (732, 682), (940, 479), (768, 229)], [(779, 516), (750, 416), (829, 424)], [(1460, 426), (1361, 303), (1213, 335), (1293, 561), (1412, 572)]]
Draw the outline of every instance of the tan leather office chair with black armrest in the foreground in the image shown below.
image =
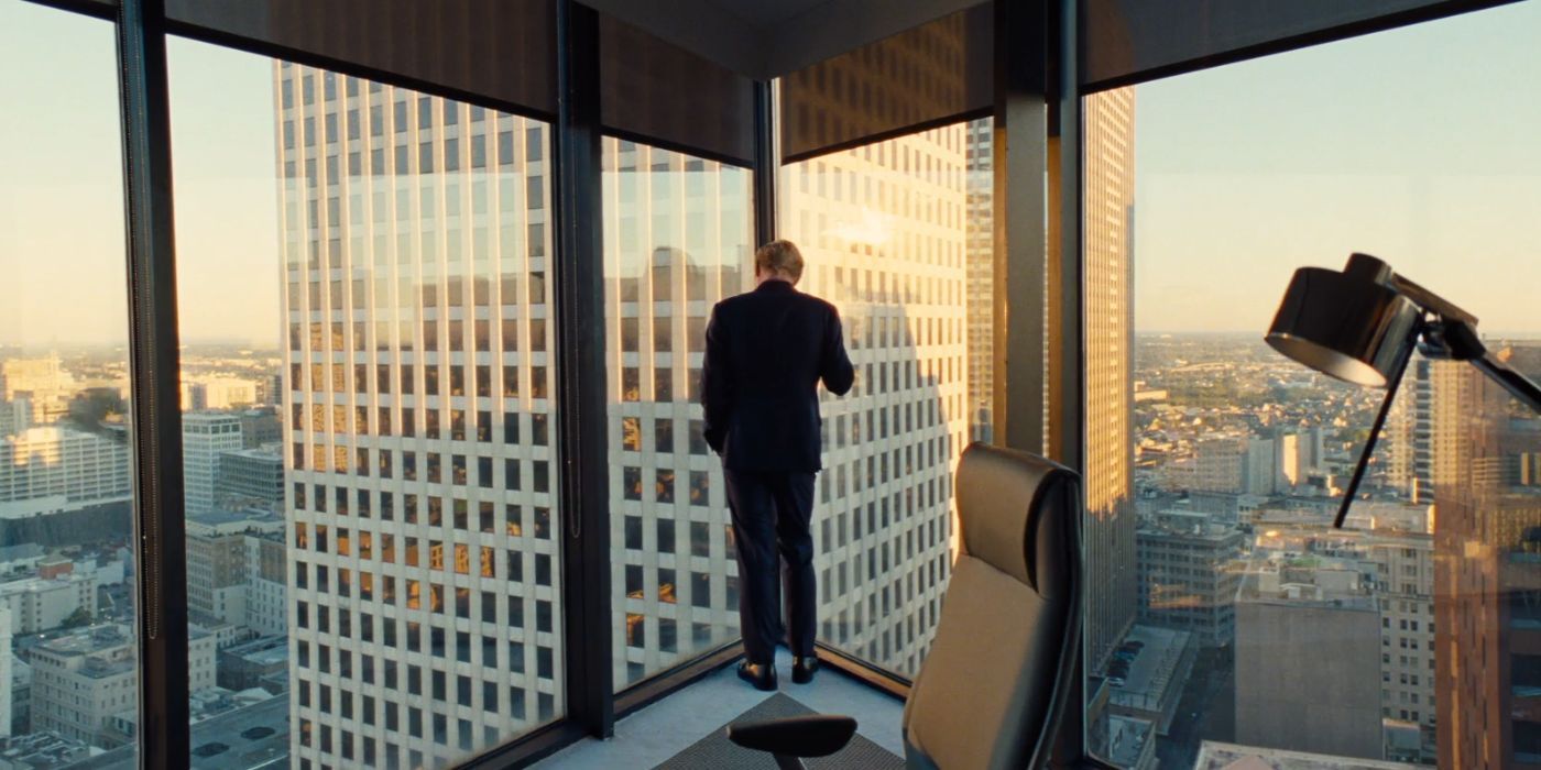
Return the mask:
[[(971, 445), (955, 479), (963, 548), (931, 651), (905, 704), (915, 770), (1046, 765), (1080, 654), (1080, 497), (1074, 471)], [(857, 722), (809, 715), (729, 725), (783, 770), (846, 745)]]

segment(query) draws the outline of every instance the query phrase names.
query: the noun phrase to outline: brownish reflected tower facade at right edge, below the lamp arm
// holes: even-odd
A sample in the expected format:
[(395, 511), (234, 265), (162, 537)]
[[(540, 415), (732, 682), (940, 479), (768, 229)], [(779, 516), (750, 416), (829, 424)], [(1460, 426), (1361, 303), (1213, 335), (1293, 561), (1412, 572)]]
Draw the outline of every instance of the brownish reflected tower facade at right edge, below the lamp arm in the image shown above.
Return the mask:
[[(1541, 346), (1499, 357), (1541, 376)], [(1435, 482), (1439, 767), (1541, 765), (1541, 419), (1464, 367), (1436, 397), (1453, 484)], [(1436, 430), (1438, 430), (1436, 428)]]

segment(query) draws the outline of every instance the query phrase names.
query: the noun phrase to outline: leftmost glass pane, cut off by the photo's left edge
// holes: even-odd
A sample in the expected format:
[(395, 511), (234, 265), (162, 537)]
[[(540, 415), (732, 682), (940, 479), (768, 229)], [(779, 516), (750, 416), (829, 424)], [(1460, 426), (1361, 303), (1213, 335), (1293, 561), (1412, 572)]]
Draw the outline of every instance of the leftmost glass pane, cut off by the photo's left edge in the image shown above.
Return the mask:
[(0, 735), (8, 761), (136, 765), (114, 29), (0, 2)]

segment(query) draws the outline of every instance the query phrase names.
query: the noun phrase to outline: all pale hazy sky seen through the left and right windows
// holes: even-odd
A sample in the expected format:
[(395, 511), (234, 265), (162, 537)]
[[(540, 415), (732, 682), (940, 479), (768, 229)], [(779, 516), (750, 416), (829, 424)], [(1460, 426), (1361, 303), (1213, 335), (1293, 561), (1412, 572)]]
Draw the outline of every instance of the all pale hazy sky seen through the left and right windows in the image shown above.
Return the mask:
[[(1541, 331), (1536, 38), (1527, 0), (1136, 86), (1136, 328), (1261, 331), (1296, 266), (1365, 251)], [(0, 0), (0, 343), (126, 340), (114, 66), (106, 22)], [(170, 69), (182, 336), (273, 345), (273, 63)]]

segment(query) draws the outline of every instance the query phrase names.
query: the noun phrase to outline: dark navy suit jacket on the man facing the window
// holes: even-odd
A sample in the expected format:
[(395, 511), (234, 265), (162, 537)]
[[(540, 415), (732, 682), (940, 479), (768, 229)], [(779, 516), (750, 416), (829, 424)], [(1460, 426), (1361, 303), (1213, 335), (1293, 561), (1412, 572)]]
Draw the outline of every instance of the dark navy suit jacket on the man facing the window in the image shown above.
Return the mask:
[(712, 308), (701, 367), (706, 442), (738, 471), (820, 470), (818, 380), (855, 380), (834, 305), (784, 280)]

